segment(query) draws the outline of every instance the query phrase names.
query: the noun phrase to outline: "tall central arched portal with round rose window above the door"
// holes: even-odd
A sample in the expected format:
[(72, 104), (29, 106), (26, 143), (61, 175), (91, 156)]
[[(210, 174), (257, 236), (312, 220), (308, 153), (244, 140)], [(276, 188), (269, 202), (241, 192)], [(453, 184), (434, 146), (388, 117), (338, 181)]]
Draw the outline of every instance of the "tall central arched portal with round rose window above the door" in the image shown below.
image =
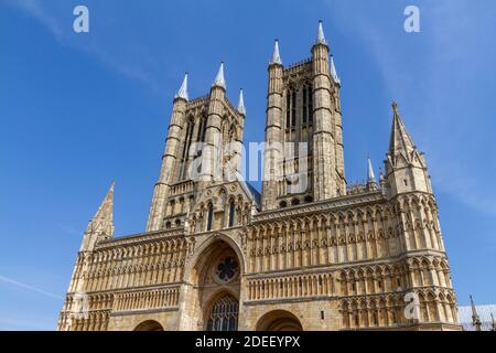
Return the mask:
[(242, 263), (236, 244), (225, 236), (214, 239), (196, 257), (191, 272), (191, 313), (196, 330), (236, 331)]

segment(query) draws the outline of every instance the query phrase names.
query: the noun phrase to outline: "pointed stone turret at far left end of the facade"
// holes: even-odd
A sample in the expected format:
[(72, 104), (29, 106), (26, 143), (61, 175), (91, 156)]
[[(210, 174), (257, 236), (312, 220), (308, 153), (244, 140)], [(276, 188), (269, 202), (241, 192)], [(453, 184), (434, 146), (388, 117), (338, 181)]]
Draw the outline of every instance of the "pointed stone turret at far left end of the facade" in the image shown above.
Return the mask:
[(98, 211), (91, 221), (89, 221), (80, 252), (90, 252), (95, 248), (96, 243), (114, 236), (114, 186), (115, 182), (110, 184), (110, 189), (98, 207)]

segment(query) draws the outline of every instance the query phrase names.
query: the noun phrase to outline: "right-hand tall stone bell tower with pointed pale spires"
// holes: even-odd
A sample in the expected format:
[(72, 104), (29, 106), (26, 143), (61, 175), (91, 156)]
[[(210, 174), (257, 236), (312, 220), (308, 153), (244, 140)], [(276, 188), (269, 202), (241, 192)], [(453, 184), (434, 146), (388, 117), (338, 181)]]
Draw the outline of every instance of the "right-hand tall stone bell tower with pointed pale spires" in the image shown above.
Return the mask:
[(276, 41), (269, 63), (262, 208), (346, 194), (341, 81), (319, 22), (312, 56), (284, 67)]

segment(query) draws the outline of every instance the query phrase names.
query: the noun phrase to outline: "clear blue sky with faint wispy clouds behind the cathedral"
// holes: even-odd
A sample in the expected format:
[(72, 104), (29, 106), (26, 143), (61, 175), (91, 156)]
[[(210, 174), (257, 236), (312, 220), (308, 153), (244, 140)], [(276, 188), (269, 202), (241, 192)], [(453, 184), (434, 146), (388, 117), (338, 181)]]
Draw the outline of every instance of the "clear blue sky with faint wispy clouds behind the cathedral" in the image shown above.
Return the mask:
[[(89, 8), (90, 32), (72, 30)], [(421, 33), (403, 31), (403, 9)], [(116, 234), (144, 229), (183, 73), (208, 93), (220, 61), (263, 139), (273, 39), (310, 56), (319, 19), (341, 76), (348, 181), (376, 170), (391, 111), (425, 152), (461, 304), (496, 290), (496, 3), (0, 0), (0, 330), (53, 330), (83, 232), (116, 179)]]

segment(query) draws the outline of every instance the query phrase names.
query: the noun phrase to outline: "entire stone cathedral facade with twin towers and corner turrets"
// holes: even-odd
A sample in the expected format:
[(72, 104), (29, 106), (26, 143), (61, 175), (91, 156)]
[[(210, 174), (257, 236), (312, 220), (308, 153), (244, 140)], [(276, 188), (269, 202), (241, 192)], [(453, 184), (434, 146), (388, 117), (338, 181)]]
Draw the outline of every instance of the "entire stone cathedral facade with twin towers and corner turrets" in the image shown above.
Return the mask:
[[(234, 107), (224, 64), (203, 97), (190, 99), (185, 76), (147, 229), (114, 237), (112, 184), (84, 234), (58, 330), (461, 328), (428, 167), (397, 105), (385, 173), (376, 181), (368, 161), (367, 181), (348, 185), (322, 23), (311, 53), (283, 66), (276, 42), (261, 194), (239, 176), (239, 150), (215, 157), (242, 141), (242, 92)], [(292, 142), (306, 153), (273, 148)], [(231, 178), (212, 178), (211, 161)]]

